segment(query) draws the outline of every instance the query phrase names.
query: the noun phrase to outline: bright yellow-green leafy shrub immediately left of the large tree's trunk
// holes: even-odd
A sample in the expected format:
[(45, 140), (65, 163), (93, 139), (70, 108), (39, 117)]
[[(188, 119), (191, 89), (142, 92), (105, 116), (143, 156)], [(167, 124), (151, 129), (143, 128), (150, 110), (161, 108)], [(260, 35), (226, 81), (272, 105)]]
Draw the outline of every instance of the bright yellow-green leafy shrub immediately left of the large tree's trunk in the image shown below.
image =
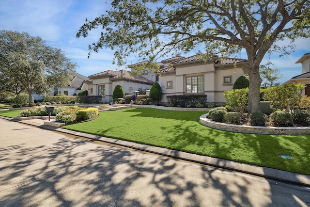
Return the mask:
[(226, 108), (231, 111), (246, 112), (248, 104), (248, 88), (225, 91)]

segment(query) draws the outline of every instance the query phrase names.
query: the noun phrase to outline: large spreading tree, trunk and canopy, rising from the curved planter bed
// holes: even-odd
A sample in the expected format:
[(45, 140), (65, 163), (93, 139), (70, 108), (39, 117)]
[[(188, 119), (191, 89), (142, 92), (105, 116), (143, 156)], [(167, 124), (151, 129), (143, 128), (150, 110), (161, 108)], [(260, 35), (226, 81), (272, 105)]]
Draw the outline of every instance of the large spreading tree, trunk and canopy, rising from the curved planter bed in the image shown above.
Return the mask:
[[(131, 55), (148, 59), (177, 55), (198, 46), (206, 57), (231, 56), (245, 49), (248, 55), (249, 111), (260, 111), (259, 65), (263, 57), (286, 54), (298, 37), (310, 36), (309, 0), (111, 0), (102, 16), (86, 19), (77, 37), (101, 28), (98, 42), (89, 49), (114, 51), (118, 65)], [(290, 39), (287, 46), (279, 41)], [(143, 65), (148, 66), (148, 65)]]

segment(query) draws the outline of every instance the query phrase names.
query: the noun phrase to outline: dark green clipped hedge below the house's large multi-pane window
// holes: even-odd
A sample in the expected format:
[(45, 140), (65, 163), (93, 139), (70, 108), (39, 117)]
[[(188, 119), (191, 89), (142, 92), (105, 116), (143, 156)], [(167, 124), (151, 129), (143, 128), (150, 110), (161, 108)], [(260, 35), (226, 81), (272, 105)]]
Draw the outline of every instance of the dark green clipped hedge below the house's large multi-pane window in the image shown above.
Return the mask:
[(198, 103), (205, 105), (207, 102), (207, 95), (201, 95), (201, 94), (173, 95), (173, 96), (167, 96), (167, 101), (169, 103), (172, 103), (173, 106), (180, 105), (186, 107), (189, 104), (195, 106)]

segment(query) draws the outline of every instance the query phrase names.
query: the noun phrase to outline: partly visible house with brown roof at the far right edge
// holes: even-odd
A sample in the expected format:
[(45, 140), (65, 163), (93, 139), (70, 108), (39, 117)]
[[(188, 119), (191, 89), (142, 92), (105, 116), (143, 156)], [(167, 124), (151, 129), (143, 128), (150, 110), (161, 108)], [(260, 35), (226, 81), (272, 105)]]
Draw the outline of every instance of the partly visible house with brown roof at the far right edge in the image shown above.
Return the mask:
[(304, 89), (304, 95), (310, 96), (310, 52), (304, 54), (299, 60), (296, 61), (295, 64), (301, 63), (301, 74), (298, 76), (294, 76), (290, 80), (285, 81), (282, 84), (290, 84), (290, 83), (302, 83), (306, 84), (307, 87)]

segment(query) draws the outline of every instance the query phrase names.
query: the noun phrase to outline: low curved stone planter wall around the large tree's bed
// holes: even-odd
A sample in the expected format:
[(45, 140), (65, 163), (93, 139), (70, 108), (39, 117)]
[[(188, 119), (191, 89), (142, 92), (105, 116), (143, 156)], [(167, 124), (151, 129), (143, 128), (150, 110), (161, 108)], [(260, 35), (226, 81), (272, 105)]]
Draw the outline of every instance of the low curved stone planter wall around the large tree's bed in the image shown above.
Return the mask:
[(207, 119), (208, 113), (203, 114), (200, 117), (199, 122), (207, 127), (216, 129), (243, 132), (243, 133), (254, 133), (254, 134), (285, 134), (285, 135), (303, 135), (310, 134), (310, 127), (258, 127), (258, 126), (244, 126), (244, 125), (232, 125), (212, 121)]

